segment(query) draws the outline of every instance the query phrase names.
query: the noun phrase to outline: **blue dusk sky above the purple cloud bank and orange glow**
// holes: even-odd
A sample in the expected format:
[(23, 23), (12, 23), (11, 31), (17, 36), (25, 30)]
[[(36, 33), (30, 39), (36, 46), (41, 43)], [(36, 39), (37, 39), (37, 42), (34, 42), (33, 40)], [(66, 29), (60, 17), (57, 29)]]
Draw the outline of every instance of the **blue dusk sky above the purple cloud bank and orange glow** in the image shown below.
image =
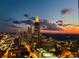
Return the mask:
[(64, 24), (79, 24), (78, 0), (0, 0), (0, 31), (26, 30), (28, 25), (24, 23), (8, 26), (14, 25), (13, 21), (26, 20), (24, 14), (51, 21), (63, 20)]

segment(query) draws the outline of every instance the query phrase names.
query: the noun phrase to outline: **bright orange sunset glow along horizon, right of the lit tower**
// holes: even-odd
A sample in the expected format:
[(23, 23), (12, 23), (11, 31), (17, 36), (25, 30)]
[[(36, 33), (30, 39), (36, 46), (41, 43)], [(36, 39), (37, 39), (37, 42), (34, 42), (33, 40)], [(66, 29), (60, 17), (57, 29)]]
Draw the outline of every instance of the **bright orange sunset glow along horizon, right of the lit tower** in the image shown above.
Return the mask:
[(64, 30), (41, 30), (41, 33), (79, 34), (79, 27), (65, 27)]

